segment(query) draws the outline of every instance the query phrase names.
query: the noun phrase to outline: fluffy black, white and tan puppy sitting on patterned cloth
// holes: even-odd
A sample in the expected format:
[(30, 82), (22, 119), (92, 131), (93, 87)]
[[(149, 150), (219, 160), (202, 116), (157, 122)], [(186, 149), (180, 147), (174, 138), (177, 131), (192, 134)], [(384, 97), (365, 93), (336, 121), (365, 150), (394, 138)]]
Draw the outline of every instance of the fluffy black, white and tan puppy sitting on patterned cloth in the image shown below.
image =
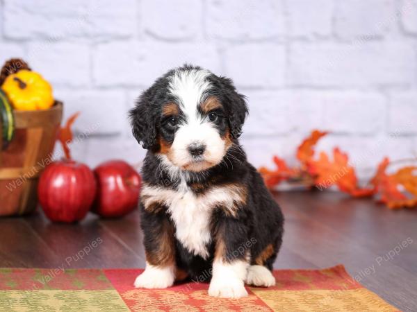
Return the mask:
[(135, 286), (211, 278), (208, 294), (243, 297), (272, 286), (284, 218), (238, 143), (247, 115), (230, 79), (200, 67), (168, 71), (130, 111), (147, 149), (141, 225), (145, 271)]

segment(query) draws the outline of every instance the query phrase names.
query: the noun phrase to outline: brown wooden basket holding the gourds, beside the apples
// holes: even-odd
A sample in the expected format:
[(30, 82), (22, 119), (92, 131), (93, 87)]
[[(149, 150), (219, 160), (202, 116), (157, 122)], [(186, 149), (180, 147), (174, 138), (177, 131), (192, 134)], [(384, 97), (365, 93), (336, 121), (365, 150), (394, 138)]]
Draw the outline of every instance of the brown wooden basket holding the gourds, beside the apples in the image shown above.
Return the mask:
[[(38, 205), (38, 177), (52, 161), (63, 104), (14, 111), (15, 137), (0, 153), (0, 216), (28, 214)], [(0, 127), (0, 148), (1, 148)]]

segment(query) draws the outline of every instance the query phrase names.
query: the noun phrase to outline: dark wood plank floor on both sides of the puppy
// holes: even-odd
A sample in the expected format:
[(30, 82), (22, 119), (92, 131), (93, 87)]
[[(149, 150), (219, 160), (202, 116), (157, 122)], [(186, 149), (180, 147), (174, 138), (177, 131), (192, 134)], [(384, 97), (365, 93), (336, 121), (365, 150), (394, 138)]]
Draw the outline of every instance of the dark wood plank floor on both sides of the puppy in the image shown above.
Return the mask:
[[(372, 200), (332, 192), (279, 193), (276, 198), (286, 216), (276, 268), (343, 263), (350, 275), (391, 304), (417, 311), (417, 209), (391, 211)], [(118, 220), (89, 215), (76, 225), (50, 223), (42, 213), (0, 218), (0, 231), (0, 267), (145, 264), (137, 211)]]

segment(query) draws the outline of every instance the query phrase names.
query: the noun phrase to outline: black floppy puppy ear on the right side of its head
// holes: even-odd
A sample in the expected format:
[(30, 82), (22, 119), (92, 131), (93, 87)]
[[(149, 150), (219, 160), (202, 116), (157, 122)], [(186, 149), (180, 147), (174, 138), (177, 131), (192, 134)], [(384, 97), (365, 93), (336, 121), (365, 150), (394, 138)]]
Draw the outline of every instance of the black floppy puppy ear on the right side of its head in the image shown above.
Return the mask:
[(229, 126), (232, 137), (237, 139), (242, 134), (243, 123), (249, 110), (247, 109), (245, 96), (239, 94), (231, 79), (221, 77), (224, 87), (224, 95), (229, 103)]

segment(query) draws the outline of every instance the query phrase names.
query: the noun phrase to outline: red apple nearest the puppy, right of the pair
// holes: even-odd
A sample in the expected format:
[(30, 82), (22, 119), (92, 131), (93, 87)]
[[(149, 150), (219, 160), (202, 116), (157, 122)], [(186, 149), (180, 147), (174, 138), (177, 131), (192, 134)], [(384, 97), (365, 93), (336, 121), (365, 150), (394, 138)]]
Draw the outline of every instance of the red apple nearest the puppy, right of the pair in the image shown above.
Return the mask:
[(98, 191), (92, 211), (111, 218), (128, 214), (138, 207), (140, 175), (123, 160), (104, 162), (94, 170)]

